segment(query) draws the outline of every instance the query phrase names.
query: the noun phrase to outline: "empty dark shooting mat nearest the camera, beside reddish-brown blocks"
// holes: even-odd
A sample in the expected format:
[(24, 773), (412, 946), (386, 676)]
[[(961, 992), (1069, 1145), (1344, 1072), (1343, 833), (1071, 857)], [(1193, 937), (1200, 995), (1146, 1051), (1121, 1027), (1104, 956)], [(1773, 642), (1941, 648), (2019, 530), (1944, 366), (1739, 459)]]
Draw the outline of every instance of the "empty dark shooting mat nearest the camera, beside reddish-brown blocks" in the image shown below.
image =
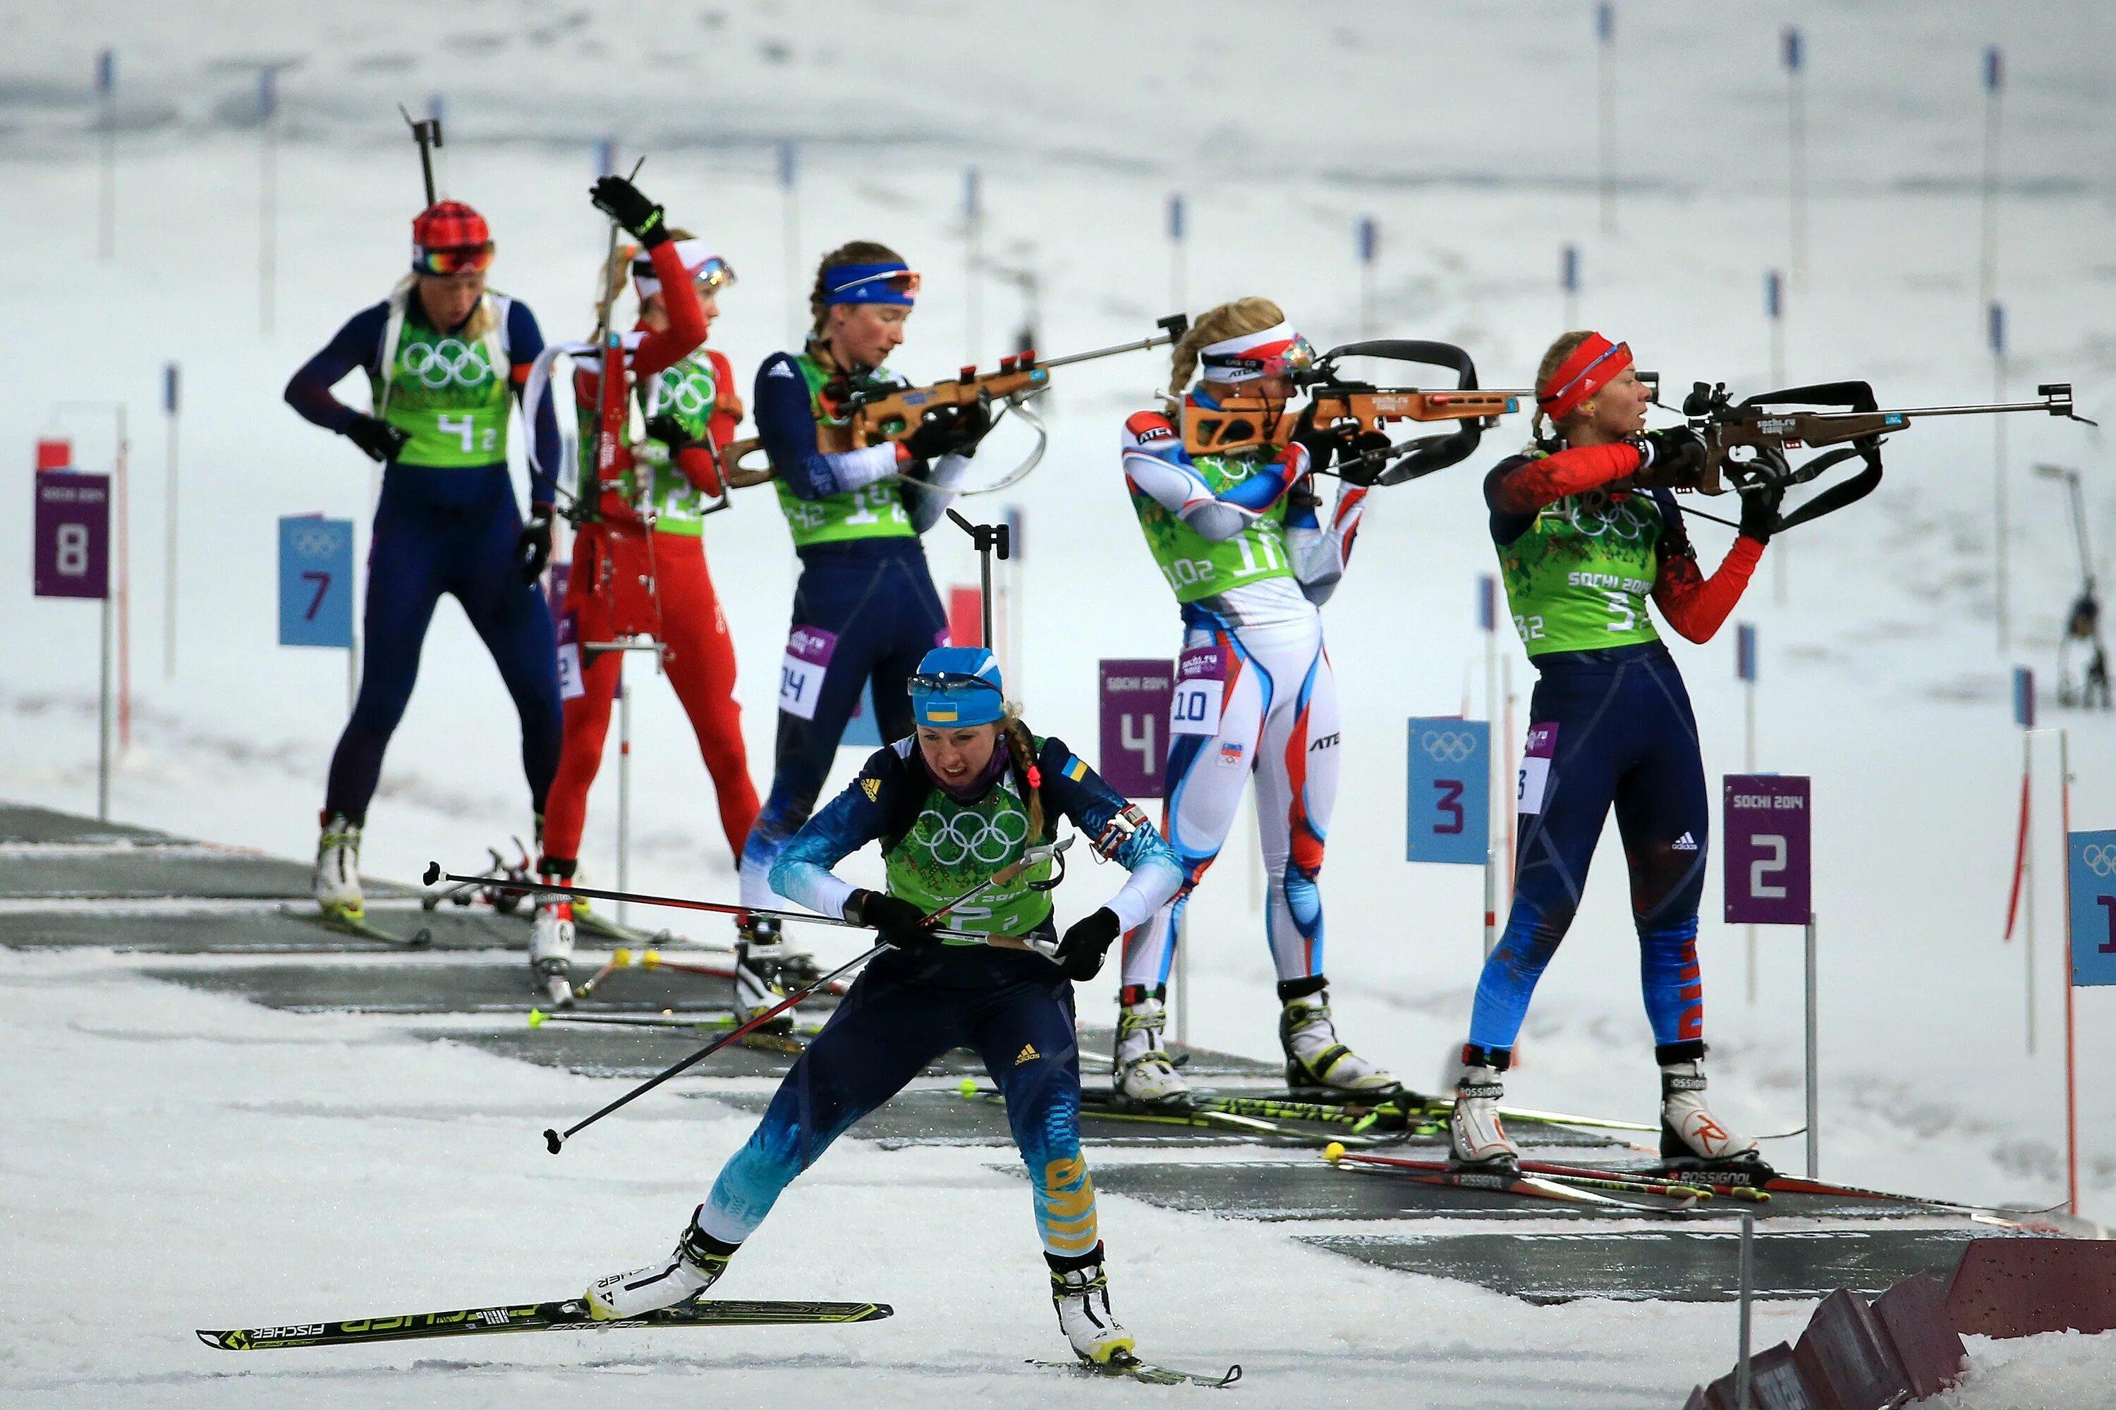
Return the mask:
[[(1096, 1182), (1100, 1180), (1102, 1173), (1096, 1171)], [(1538, 1207), (1551, 1203), (1536, 1201)], [(1301, 1243), (1382, 1268), (1477, 1283), (1524, 1302), (1733, 1302), (1739, 1287), (1739, 1222), (1718, 1216), (1665, 1218), (1665, 1226), (1625, 1230), (1303, 1235)], [(1824, 1298), (1839, 1287), (1879, 1296), (1913, 1273), (1953, 1266), (1970, 1239), (1993, 1232), (1998, 1230), (1968, 1220), (1947, 1228), (1873, 1220), (1854, 1228), (1773, 1230), (1758, 1224), (1752, 1285), (1758, 1298)]]

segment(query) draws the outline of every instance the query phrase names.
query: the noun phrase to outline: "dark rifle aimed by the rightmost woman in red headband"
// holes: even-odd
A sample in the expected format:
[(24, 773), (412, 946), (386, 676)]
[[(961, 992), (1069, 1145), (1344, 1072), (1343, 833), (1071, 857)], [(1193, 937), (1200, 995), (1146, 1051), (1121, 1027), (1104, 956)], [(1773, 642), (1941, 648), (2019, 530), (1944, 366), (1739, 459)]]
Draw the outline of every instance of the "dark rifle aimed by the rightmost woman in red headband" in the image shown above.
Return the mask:
[[(1659, 400), (1659, 376), (1640, 374)], [(2095, 425), (2072, 410), (2072, 383), (2042, 383), (2036, 387), (2036, 402), (1987, 402), (1978, 406), (1911, 406), (1885, 410), (1873, 395), (1871, 383), (1818, 383), (1813, 387), (1788, 387), (1786, 391), (1763, 391), (1741, 402), (1727, 395), (1727, 383), (1695, 383), (1682, 397), (1682, 414), (1691, 429), (1705, 442), (1705, 465), (1695, 480), (1667, 488), (1697, 490), (1699, 495), (1758, 495), (1807, 484), (1818, 476), (1860, 461), (1860, 469), (1830, 484), (1813, 499), (1780, 514), (1777, 528), (1811, 524), (1824, 514), (1835, 514), (1849, 503), (1858, 503), (1881, 484), (1881, 442), (1907, 429), (1923, 416), (1993, 416), (2000, 412), (2048, 412), (2067, 421)], [(1843, 410), (1807, 410), (1843, 408)], [(1786, 463), (1786, 448), (1832, 446), (1801, 467)]]

